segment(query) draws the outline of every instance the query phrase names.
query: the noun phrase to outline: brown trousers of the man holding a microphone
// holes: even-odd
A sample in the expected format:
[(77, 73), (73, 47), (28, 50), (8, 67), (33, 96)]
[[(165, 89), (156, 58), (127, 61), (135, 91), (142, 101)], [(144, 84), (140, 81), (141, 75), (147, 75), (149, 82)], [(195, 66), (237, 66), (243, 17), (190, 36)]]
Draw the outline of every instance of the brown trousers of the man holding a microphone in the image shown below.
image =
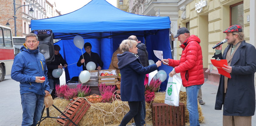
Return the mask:
[(251, 116), (224, 116), (223, 126), (251, 126)]

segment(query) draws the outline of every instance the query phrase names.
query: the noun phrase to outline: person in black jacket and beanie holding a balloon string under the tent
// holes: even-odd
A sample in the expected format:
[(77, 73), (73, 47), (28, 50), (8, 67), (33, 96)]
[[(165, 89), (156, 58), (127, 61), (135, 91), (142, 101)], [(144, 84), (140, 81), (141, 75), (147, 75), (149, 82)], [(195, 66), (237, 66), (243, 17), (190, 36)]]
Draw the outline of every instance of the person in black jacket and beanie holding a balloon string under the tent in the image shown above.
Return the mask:
[[(91, 51), (91, 43), (85, 43), (84, 44), (84, 49), (85, 49), (85, 53), (84, 58), (83, 55), (80, 56), (79, 60), (77, 61), (77, 66), (81, 66), (83, 65), (83, 70), (87, 70), (86, 69), (86, 64), (90, 61), (93, 61), (96, 65), (96, 69), (97, 70), (101, 70), (101, 68), (103, 67), (103, 62), (101, 61), (101, 58), (99, 57), (99, 55), (97, 53), (94, 53)], [(84, 65), (85, 63), (85, 65)], [(98, 67), (97, 67), (98, 66)]]

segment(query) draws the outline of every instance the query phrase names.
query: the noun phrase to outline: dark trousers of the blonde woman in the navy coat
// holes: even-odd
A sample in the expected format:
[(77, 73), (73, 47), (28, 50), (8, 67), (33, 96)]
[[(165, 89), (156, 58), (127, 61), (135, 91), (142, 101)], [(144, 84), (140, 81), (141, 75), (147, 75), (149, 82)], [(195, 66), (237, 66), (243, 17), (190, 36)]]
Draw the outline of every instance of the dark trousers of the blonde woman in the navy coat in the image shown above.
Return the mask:
[(130, 111), (126, 113), (121, 121), (121, 124), (119, 126), (126, 126), (126, 124), (131, 121), (132, 118), (134, 118), (136, 126), (141, 126), (140, 122), (140, 112), (142, 108), (141, 101), (134, 101), (134, 102), (128, 102)]

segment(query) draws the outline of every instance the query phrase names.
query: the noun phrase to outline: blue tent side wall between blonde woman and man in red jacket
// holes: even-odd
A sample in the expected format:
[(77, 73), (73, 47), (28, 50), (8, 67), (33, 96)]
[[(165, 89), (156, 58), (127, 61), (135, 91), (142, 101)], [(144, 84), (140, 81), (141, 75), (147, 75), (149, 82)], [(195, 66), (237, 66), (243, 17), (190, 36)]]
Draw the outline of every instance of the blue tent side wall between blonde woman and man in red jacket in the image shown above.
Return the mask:
[[(153, 30), (151, 32), (153, 32)], [(170, 45), (170, 39), (169, 39), (169, 29), (162, 29), (154, 32), (155, 34), (148, 35), (146, 37), (148, 59), (151, 59), (154, 62), (157, 62), (159, 60), (155, 56), (153, 50), (163, 51), (164, 59), (172, 58), (171, 45)], [(172, 71), (172, 67), (162, 64), (160, 67), (158, 67), (158, 71), (159, 70), (164, 70), (167, 74), (166, 80), (162, 82), (160, 86), (160, 91), (165, 91), (167, 86), (167, 81), (169, 78), (169, 73)]]

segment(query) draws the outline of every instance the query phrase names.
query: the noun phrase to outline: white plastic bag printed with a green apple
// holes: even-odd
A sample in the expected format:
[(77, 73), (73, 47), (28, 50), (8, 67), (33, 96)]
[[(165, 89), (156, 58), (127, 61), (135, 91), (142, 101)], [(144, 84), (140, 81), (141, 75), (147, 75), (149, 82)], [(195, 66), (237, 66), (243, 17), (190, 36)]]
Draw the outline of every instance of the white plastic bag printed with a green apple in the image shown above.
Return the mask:
[(172, 106), (179, 106), (180, 100), (180, 86), (182, 80), (178, 75), (169, 76), (166, 91), (165, 91), (165, 103)]

